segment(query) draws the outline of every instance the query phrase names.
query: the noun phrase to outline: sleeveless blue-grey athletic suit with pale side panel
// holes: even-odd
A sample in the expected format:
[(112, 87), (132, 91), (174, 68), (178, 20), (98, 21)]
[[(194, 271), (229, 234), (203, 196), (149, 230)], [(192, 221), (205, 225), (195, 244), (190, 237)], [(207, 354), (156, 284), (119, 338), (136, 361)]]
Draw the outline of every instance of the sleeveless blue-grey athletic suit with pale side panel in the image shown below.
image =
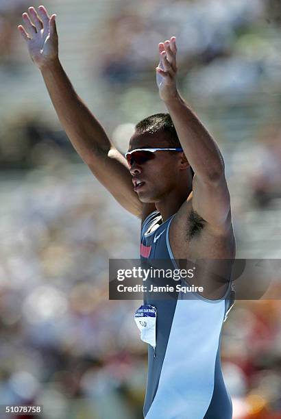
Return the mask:
[[(164, 223), (158, 211), (145, 218), (140, 233), (141, 262), (167, 259), (170, 268), (178, 268), (169, 244), (173, 216)], [(149, 290), (149, 279), (146, 285)], [(230, 291), (229, 286), (225, 296), (215, 301), (197, 293), (188, 293), (186, 299), (181, 291), (173, 299), (162, 300), (144, 293), (144, 304), (157, 311), (155, 351), (148, 345), (145, 419), (232, 418), (219, 353), (221, 327), (234, 302)]]

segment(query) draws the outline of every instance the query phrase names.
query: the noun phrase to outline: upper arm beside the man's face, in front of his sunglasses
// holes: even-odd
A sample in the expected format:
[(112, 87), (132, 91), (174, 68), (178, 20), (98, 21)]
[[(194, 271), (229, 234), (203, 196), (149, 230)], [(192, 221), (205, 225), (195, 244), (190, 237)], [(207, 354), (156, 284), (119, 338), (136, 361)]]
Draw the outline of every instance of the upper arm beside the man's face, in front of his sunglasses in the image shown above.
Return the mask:
[(144, 204), (134, 192), (127, 160), (115, 147), (112, 146), (108, 153), (96, 153), (87, 164), (95, 177), (125, 210), (142, 218)]

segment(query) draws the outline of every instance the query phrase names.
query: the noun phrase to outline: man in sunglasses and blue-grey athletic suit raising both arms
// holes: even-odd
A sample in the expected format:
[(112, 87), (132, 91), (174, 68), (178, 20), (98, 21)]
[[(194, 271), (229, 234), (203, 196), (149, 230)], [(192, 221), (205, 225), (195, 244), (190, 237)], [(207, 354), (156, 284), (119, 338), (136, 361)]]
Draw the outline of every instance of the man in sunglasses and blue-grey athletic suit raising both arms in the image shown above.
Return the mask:
[[(231, 268), (223, 262), (236, 249), (230, 194), (217, 144), (178, 92), (175, 37), (158, 45), (156, 68), (169, 114), (140, 121), (124, 157), (64, 73), (55, 19), (44, 6), (31, 7), (19, 31), (73, 147), (114, 198), (141, 219), (140, 258), (169, 259), (175, 267), (181, 259), (208, 261), (197, 278), (201, 294), (192, 293), (188, 301), (182, 292), (169, 300), (145, 295), (144, 307), (156, 319), (156, 342), (147, 340), (145, 419), (231, 419), (219, 355), (230, 308)], [(208, 272), (214, 270), (225, 281), (212, 287)]]

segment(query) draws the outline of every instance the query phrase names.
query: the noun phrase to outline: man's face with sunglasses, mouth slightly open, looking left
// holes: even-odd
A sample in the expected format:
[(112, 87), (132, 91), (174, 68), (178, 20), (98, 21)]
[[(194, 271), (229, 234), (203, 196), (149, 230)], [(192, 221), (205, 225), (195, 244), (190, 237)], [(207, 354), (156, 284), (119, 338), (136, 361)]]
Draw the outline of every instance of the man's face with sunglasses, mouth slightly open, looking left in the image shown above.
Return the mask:
[[(134, 134), (128, 151), (134, 149), (171, 148), (167, 134)], [(130, 167), (134, 190), (142, 202), (158, 202), (169, 194), (182, 175), (183, 152), (156, 151), (154, 159), (138, 164), (134, 160)], [(188, 166), (188, 163), (187, 163)], [(136, 181), (142, 181), (136, 186)]]

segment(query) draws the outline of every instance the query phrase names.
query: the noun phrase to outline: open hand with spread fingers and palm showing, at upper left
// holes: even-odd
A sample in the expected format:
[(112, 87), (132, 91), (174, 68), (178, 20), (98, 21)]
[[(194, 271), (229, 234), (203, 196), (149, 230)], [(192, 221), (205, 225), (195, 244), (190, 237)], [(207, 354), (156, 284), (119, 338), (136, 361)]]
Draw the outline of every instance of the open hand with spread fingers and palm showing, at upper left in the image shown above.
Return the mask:
[(23, 13), (23, 25), (18, 29), (27, 42), (32, 61), (42, 68), (58, 60), (58, 34), (56, 31), (56, 14), (49, 16), (46, 8), (40, 5)]

